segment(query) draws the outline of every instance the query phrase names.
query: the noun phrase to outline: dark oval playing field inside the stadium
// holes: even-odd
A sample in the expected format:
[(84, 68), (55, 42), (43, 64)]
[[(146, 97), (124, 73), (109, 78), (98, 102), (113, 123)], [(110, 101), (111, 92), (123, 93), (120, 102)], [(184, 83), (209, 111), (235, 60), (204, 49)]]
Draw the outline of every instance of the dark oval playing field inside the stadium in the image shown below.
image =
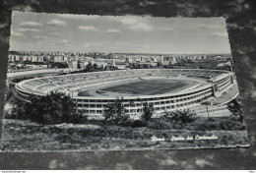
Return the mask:
[[(115, 93), (124, 93), (128, 95), (155, 95), (174, 91), (175, 89), (186, 87), (190, 84), (187, 81), (166, 80), (166, 79), (151, 79), (140, 80), (127, 84), (121, 84), (111, 87), (103, 87), (96, 90), (97, 94), (115, 95)], [(93, 96), (92, 93), (83, 91), (79, 96)]]

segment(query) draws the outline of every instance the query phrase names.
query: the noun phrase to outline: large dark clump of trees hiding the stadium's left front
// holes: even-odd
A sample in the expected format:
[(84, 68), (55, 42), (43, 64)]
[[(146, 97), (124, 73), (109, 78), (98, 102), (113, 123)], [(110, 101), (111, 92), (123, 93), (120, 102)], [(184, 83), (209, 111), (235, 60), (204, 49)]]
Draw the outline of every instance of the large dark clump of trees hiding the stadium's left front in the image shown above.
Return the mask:
[[(87, 116), (78, 112), (70, 95), (51, 91), (46, 96), (31, 95), (30, 102), (16, 99), (13, 114), (41, 124), (85, 123)], [(78, 121), (80, 119), (80, 121)]]

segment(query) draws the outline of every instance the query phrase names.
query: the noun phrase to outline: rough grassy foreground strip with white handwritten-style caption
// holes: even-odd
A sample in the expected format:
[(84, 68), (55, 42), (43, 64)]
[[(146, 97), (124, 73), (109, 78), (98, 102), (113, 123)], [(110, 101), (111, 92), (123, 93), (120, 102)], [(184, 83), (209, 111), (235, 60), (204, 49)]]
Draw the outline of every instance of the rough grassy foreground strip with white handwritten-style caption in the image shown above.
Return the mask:
[[(180, 140), (173, 137), (216, 136), (215, 140)], [(165, 141), (152, 141), (152, 137)], [(241, 131), (153, 130), (146, 127), (85, 125), (38, 125), (30, 121), (4, 120), (1, 150), (120, 150), (181, 149), (246, 145), (247, 133)]]

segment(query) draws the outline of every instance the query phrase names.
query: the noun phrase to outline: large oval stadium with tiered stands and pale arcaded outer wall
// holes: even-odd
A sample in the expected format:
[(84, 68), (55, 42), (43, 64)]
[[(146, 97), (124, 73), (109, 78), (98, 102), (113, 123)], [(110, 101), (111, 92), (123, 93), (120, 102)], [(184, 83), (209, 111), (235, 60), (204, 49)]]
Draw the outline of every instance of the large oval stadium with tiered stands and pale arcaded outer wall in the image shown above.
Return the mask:
[(70, 94), (79, 110), (99, 116), (105, 105), (123, 97), (126, 113), (142, 112), (143, 103), (157, 113), (186, 109), (219, 97), (232, 87), (233, 73), (205, 69), (134, 69), (35, 78), (16, 85), (18, 96), (50, 91)]

